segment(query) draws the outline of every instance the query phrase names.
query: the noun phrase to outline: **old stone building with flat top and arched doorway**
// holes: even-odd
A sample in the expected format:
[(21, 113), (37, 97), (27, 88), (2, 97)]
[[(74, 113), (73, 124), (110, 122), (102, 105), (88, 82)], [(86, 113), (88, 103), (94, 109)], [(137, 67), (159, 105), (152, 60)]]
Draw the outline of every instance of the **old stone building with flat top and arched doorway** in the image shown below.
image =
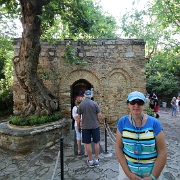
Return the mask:
[[(111, 127), (128, 113), (127, 95), (131, 91), (146, 92), (145, 42), (139, 39), (95, 39), (93, 43), (58, 41), (55, 45), (42, 42), (39, 72), (44, 83), (59, 99), (64, 117), (71, 109), (78, 91), (90, 89)], [(64, 61), (66, 44), (70, 43), (77, 56), (88, 62), (78, 66)], [(20, 39), (14, 40), (18, 55)], [(44, 73), (44, 74), (43, 74)], [(14, 77), (14, 114), (26, 103), (27, 97)]]

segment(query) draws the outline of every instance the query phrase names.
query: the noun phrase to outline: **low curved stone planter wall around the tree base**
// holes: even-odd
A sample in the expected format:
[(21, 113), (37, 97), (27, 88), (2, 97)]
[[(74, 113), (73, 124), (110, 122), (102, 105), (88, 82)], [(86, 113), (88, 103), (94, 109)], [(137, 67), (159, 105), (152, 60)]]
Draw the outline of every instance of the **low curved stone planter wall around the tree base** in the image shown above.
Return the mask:
[(18, 153), (39, 151), (51, 147), (71, 130), (71, 119), (31, 126), (13, 126), (8, 122), (0, 124), (0, 148)]

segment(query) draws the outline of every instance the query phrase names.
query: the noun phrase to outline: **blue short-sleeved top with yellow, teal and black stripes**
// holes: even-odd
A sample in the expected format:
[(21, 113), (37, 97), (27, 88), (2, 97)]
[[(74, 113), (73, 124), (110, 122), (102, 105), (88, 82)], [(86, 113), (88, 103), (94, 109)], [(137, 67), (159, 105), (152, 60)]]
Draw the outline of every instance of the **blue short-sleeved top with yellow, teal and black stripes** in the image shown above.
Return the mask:
[[(118, 121), (117, 128), (122, 134), (123, 153), (129, 169), (141, 177), (148, 176), (157, 157), (155, 136), (161, 132), (161, 124), (148, 116), (145, 125), (135, 127), (128, 116), (124, 116)], [(136, 144), (140, 145), (140, 154), (135, 153)]]

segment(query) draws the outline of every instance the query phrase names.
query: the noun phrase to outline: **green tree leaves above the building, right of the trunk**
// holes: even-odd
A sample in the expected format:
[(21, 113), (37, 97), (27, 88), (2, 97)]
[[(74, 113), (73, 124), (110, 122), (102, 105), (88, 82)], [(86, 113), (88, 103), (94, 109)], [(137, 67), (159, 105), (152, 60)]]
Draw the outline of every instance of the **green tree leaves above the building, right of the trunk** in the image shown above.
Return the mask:
[(115, 18), (93, 0), (51, 0), (40, 19), (46, 40), (115, 38), (118, 29)]

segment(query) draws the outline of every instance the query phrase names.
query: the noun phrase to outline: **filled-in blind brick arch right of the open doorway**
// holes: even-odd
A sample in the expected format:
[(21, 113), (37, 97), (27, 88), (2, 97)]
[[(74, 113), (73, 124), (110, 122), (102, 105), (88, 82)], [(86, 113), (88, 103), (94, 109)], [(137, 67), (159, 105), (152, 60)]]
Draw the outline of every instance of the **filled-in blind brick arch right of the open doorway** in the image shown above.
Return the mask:
[(131, 91), (132, 76), (132, 73), (124, 69), (116, 68), (107, 77), (108, 102), (111, 102), (107, 105), (107, 117), (110, 121), (116, 122), (122, 116), (122, 112), (128, 111), (126, 98), (127, 93)]

